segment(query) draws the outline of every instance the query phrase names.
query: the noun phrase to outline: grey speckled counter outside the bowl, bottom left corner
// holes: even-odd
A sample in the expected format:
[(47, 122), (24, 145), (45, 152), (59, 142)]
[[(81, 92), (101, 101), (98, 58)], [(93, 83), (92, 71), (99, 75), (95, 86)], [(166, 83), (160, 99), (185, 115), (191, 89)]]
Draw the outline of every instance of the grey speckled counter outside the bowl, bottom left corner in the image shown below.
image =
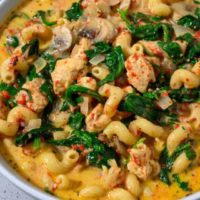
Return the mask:
[(36, 200), (0, 174), (0, 200)]

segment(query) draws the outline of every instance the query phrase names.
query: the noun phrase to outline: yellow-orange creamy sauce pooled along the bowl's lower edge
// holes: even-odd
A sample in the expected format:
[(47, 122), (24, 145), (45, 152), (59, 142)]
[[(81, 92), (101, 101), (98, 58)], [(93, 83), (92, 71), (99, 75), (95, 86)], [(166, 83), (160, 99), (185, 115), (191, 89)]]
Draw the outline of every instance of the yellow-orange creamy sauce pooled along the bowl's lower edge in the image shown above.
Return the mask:
[[(4, 139), (3, 143), (0, 146), (1, 154), (6, 160), (16, 169), (20, 174), (22, 174), (28, 181), (34, 183), (41, 189), (45, 188), (48, 183), (42, 182), (43, 178), (50, 176), (43, 164), (37, 157), (31, 158), (26, 156), (23, 153), (22, 148), (16, 147), (12, 140)], [(77, 184), (80, 184), (80, 181), (83, 185), (102, 185), (100, 179), (100, 170), (97, 168), (89, 168), (87, 170), (78, 170), (74, 169), (68, 177), (74, 181), (75, 190), (79, 191), (81, 187), (76, 187)], [(145, 184), (145, 192), (141, 196), (141, 200), (177, 200), (183, 196), (192, 194), (200, 190), (200, 167), (190, 169), (189, 172), (182, 173), (180, 175), (181, 179), (189, 183), (190, 192), (184, 192), (180, 189), (176, 183), (173, 183), (171, 186), (166, 186), (166, 184), (157, 181), (151, 180), (147, 181)], [(73, 187), (72, 187), (73, 188)], [(88, 198), (81, 198), (78, 196), (78, 192), (71, 189), (70, 191), (66, 190), (56, 190), (55, 194), (61, 199), (69, 200), (90, 200)], [(101, 198), (106, 200), (107, 198)], [(93, 200), (93, 199), (91, 199)]]

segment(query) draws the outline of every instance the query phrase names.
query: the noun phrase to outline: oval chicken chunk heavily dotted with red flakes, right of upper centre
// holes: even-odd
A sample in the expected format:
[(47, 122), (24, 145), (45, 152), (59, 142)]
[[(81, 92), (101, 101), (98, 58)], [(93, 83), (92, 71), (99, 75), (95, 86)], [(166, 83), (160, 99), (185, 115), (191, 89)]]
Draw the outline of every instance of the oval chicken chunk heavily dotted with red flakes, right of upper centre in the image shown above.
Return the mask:
[(145, 92), (148, 84), (155, 81), (152, 65), (143, 55), (134, 54), (125, 63), (128, 82), (139, 92)]

